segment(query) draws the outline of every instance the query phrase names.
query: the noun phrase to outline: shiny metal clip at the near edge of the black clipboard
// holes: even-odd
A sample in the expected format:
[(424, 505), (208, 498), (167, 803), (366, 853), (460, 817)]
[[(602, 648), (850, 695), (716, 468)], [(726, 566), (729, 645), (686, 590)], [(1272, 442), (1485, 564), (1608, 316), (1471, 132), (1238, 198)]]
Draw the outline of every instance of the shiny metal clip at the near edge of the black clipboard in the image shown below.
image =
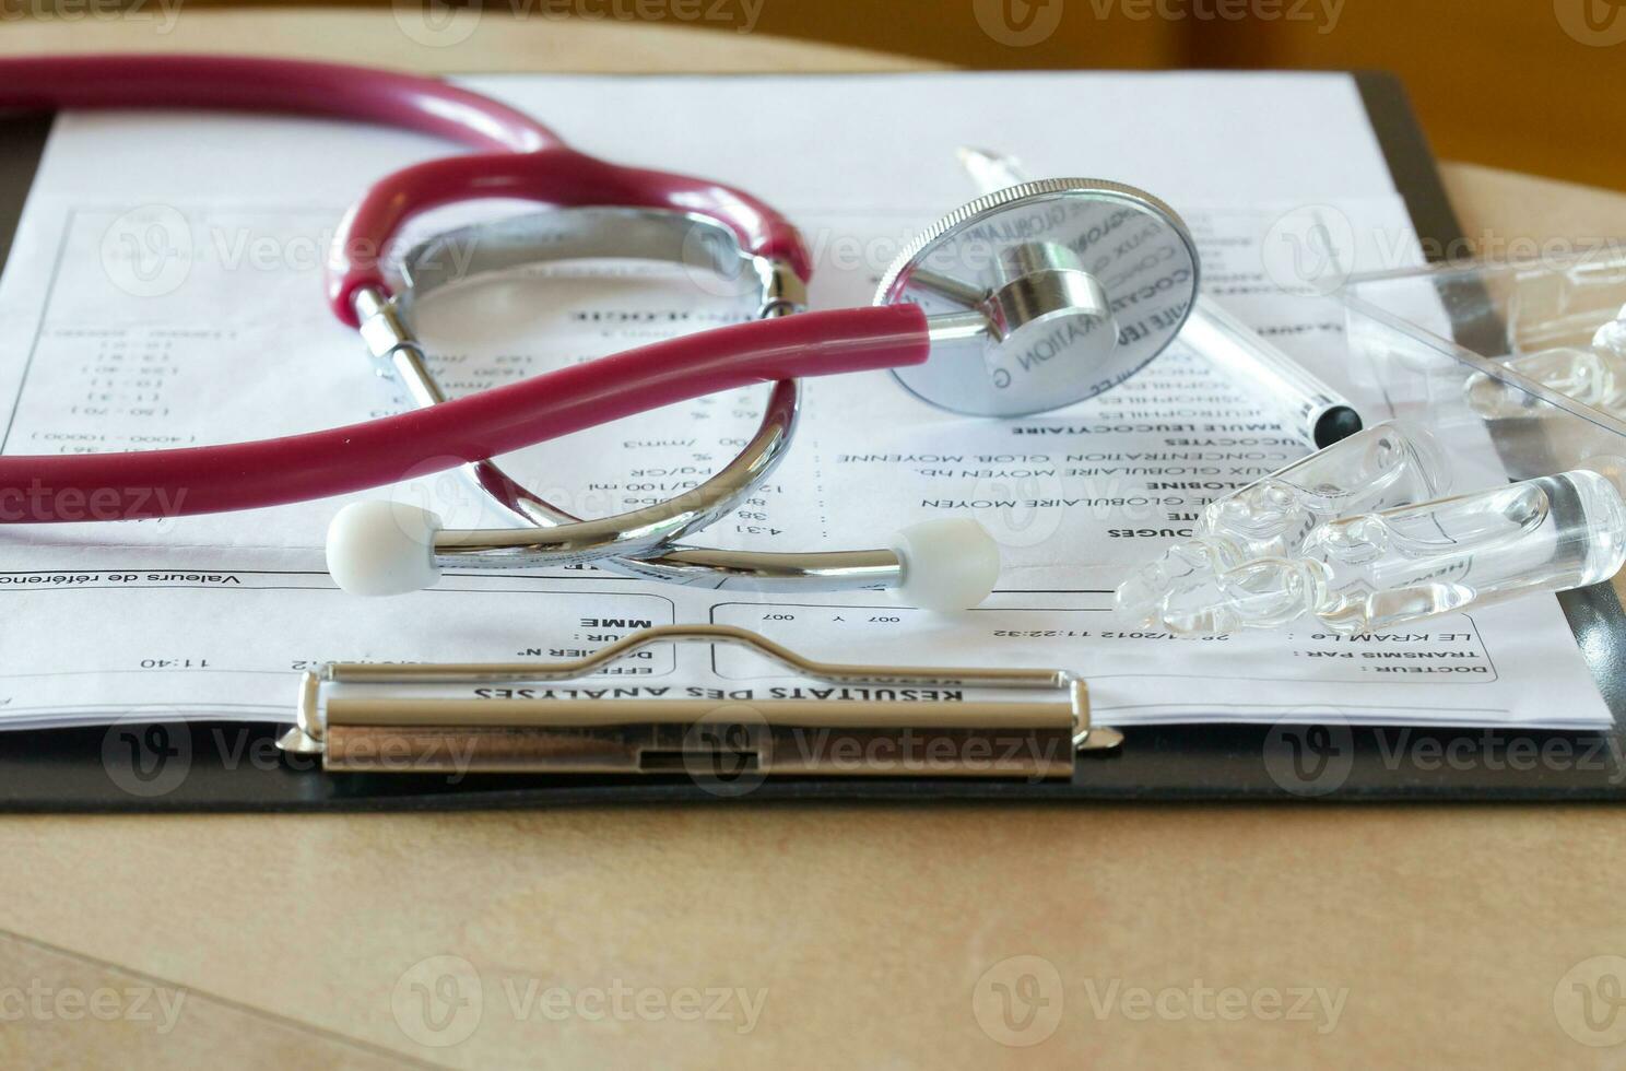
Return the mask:
[[(571, 681), (652, 644), (748, 647), (852, 699), (444, 699), (325, 696), (325, 684)], [(971, 702), (943, 689), (1036, 689), (1067, 702)], [(899, 696), (907, 692), (907, 696)], [(803, 658), (730, 626), (647, 629), (585, 658), (512, 665), (325, 663), (299, 684), (289, 754), (328, 772), (972, 777), (1049, 780), (1080, 752), (1120, 748), (1089, 722), (1089, 691), (1067, 670), (852, 666)]]

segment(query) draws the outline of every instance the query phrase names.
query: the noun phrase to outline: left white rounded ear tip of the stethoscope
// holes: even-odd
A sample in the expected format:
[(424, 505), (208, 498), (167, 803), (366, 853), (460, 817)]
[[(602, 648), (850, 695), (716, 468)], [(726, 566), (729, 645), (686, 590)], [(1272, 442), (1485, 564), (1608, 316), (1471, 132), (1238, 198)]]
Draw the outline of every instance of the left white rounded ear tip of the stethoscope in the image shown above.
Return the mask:
[(441, 518), (402, 502), (351, 502), (327, 528), (327, 570), (350, 595), (405, 595), (441, 579)]

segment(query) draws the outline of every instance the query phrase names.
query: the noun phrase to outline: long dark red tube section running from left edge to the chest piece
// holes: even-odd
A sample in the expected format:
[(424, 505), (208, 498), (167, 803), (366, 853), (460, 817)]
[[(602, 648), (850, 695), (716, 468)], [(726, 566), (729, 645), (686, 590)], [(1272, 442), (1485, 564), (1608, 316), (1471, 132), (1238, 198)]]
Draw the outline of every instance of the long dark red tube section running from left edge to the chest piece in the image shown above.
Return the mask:
[(805, 312), (628, 349), (364, 424), (220, 447), (0, 458), (0, 523), (138, 520), (380, 488), (719, 390), (925, 359), (915, 306)]

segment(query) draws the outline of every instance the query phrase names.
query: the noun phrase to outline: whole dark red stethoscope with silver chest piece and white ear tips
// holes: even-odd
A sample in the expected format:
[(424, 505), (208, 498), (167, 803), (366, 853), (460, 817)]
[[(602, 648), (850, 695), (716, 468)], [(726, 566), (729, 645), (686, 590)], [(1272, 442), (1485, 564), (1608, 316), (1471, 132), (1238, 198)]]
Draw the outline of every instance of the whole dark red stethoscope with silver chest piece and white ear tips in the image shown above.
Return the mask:
[[(993, 587), (998, 548), (969, 518), (915, 525), (872, 551), (722, 551), (678, 540), (732, 512), (782, 460), (797, 424), (798, 377), (889, 369), (909, 392), (945, 410), (1041, 413), (1140, 371), (1180, 332), (1198, 284), (1192, 236), (1167, 205), (1127, 185), (1050, 179), (989, 193), (927, 228), (883, 275), (872, 307), (805, 312), (808, 250), (782, 215), (750, 193), (610, 164), (480, 94), (369, 68), (161, 55), (0, 60), (0, 107), (306, 112), (486, 150), (387, 176), (333, 239), (328, 302), (359, 328), (377, 371), (408, 390), (415, 411), (216, 447), (0, 457), (0, 488), (31, 489), (34, 505), (23, 522), (65, 520), (50, 507), (62, 491), (99, 496), (101, 518), (137, 520), (350, 494), (467, 465), (522, 525), (444, 530), (415, 505), (351, 504), (330, 528), (328, 567), (340, 587), (359, 595), (418, 590), (444, 569), (590, 562), (676, 583), (896, 588), (927, 608), (972, 606)], [(441, 234), (405, 255), (402, 286), (385, 278), (385, 257), (410, 219), (496, 197), (553, 210)], [(756, 320), (444, 397), (411, 328), (416, 301), (519, 267), (595, 257), (743, 278), (754, 286)], [(646, 509), (582, 520), (489, 460), (759, 382), (774, 388), (745, 449), (698, 488)], [(154, 502), (172, 509), (159, 514)]]

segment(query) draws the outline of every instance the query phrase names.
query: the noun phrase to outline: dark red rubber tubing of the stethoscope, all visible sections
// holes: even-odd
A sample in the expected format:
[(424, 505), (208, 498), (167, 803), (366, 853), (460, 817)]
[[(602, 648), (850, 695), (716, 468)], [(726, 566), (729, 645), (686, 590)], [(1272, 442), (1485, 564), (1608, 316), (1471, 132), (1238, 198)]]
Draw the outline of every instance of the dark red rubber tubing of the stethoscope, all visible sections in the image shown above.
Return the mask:
[[(618, 167), (496, 101), (433, 78), (302, 60), (106, 55), (0, 60), (0, 109), (198, 107), (389, 124), (494, 153), (406, 167), (345, 218), (328, 258), (335, 314), (387, 293), (382, 260), (415, 215), (473, 197), (637, 205), (711, 216), (741, 247), (810, 258), (790, 223), (704, 179)], [(385, 486), (699, 395), (925, 361), (912, 306), (745, 323), (631, 349), (428, 410), (281, 439), (140, 453), (0, 457), (0, 523), (141, 520), (281, 505)]]

